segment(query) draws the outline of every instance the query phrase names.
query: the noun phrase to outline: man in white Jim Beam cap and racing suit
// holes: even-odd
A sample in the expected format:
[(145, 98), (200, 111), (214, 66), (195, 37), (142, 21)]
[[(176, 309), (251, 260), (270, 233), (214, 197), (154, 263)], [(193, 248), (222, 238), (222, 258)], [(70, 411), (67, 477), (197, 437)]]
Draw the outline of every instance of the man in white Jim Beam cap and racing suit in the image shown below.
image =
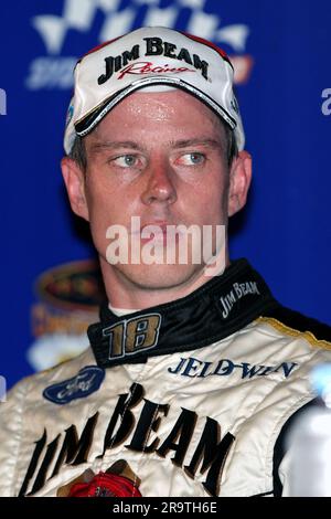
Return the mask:
[(287, 495), (284, 433), (331, 335), (229, 261), (250, 182), (232, 82), (164, 28), (78, 62), (62, 169), (108, 301), (89, 349), (1, 405), (1, 495)]

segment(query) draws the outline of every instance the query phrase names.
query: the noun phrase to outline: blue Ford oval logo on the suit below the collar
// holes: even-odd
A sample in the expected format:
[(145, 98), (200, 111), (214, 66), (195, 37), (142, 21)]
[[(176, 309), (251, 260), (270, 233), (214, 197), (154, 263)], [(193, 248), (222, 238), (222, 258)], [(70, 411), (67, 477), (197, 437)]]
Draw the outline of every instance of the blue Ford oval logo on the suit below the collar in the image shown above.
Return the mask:
[(105, 378), (105, 370), (97, 366), (83, 368), (76, 377), (50, 385), (43, 396), (54, 404), (64, 405), (76, 399), (85, 399), (99, 389)]

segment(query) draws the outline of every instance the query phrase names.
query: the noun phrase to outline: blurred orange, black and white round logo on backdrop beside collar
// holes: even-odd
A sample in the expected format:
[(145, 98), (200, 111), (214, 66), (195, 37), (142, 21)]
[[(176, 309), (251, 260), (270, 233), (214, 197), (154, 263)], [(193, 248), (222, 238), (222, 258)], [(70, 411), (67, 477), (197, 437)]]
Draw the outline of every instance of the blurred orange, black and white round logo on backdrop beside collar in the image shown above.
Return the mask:
[(88, 347), (87, 327), (98, 320), (106, 294), (98, 263), (72, 262), (42, 273), (35, 282), (38, 303), (32, 307), (32, 333), (26, 352), (36, 370), (52, 368)]

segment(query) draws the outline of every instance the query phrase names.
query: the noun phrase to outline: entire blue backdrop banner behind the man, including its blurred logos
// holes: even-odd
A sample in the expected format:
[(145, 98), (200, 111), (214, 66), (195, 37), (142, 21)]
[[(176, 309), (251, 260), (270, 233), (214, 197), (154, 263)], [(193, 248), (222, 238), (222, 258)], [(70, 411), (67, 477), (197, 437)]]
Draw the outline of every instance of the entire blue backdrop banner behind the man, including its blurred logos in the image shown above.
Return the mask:
[(254, 181), (231, 223), (282, 304), (331, 324), (329, 0), (29, 0), (0, 7), (2, 388), (87, 346), (103, 287), (60, 160), (73, 66), (140, 25), (212, 40), (235, 67)]

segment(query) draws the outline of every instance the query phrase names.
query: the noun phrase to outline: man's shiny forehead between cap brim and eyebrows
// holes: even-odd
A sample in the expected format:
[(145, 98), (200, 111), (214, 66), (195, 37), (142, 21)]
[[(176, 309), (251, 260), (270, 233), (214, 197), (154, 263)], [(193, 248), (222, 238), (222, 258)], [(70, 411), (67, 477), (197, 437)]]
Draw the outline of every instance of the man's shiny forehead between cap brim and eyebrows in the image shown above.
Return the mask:
[(220, 128), (224, 131), (221, 118), (193, 95), (179, 88), (143, 89), (118, 103), (87, 139), (100, 139), (109, 131), (113, 135), (171, 130), (220, 133)]

